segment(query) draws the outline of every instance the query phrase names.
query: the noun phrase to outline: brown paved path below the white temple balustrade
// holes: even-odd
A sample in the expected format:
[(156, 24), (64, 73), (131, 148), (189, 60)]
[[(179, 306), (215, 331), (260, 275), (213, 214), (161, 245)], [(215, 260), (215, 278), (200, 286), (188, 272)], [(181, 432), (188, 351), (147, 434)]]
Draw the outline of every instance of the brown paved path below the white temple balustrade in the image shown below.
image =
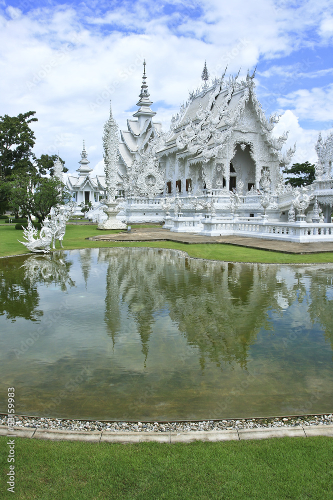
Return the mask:
[(279, 251), (283, 253), (320, 253), (333, 252), (333, 243), (292, 243), (245, 236), (201, 236), (188, 232), (171, 232), (162, 227), (138, 227), (130, 232), (121, 231), (113, 234), (101, 234), (92, 238), (94, 241), (178, 241), (180, 243), (212, 244), (224, 243), (249, 248)]

